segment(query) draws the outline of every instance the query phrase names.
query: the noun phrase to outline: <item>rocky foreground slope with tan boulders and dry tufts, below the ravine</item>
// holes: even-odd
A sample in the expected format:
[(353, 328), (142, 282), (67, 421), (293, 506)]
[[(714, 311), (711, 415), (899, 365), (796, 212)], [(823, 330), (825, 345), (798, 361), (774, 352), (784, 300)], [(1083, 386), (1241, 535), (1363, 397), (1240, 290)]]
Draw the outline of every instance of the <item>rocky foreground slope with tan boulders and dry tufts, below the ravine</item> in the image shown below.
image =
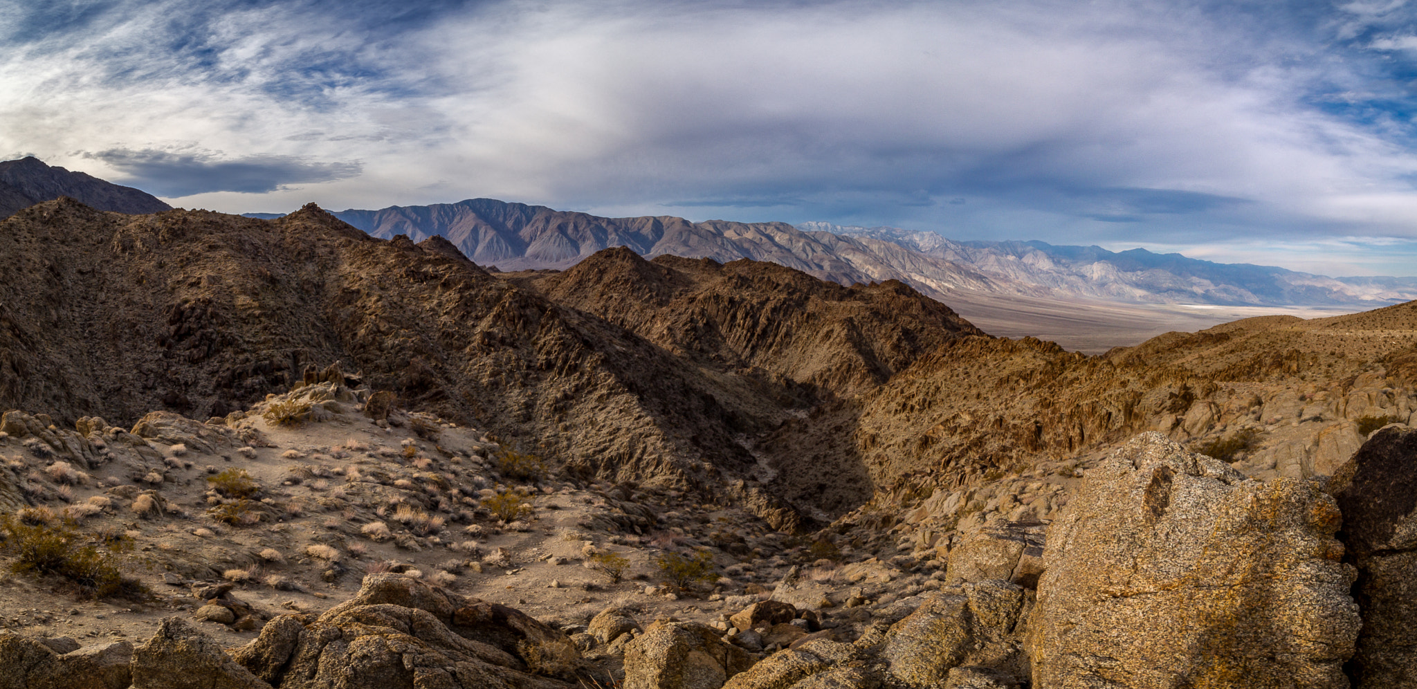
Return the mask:
[[(975, 513), (928, 551), (879, 559), (849, 533), (794, 543), (683, 495), (550, 474), (516, 485), (479, 431), (400, 410), (370, 418), (368, 391), (344, 380), (332, 369), (249, 413), (153, 414), (132, 432), (6, 414), (0, 448), (23, 451), (0, 482), (11, 508), (40, 505), (16, 513), (43, 520), (34, 510), (52, 500), (96, 532), (130, 526), (146, 567), (129, 574), (149, 590), (122, 605), (149, 622), (132, 639), (77, 639), (62, 634), (72, 622), (0, 634), (0, 688), (1417, 682), (1417, 431), (1403, 424), (1316, 479), (1258, 481), (1141, 434), (1060, 469), (1050, 519)], [(305, 425), (273, 421), (290, 404)], [(234, 499), (200, 481), (221, 475), (197, 464), (208, 456), (248, 468), (256, 488)], [(524, 512), (499, 519), (507, 495)], [(954, 509), (941, 502), (915, 517)], [(232, 506), (249, 512), (225, 519)], [(543, 523), (563, 513), (574, 526)], [(459, 540), (455, 523), (486, 540)], [(520, 534), (544, 540), (493, 546)], [(595, 576), (605, 553), (626, 560), (614, 580)], [(703, 553), (710, 574), (669, 583), (653, 567), (667, 553)], [(72, 590), (40, 581), (31, 603), (71, 605)], [(357, 593), (330, 607), (346, 581)], [(6, 627), (26, 631), (17, 620)]]

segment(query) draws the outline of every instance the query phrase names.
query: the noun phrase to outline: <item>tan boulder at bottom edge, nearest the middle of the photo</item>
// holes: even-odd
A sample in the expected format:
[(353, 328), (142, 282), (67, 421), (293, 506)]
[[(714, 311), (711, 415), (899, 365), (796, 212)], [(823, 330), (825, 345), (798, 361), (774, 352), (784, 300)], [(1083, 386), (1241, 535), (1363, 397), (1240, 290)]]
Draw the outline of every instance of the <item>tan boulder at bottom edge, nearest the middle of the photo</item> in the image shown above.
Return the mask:
[(752, 666), (747, 651), (697, 622), (650, 625), (625, 646), (625, 689), (718, 689)]

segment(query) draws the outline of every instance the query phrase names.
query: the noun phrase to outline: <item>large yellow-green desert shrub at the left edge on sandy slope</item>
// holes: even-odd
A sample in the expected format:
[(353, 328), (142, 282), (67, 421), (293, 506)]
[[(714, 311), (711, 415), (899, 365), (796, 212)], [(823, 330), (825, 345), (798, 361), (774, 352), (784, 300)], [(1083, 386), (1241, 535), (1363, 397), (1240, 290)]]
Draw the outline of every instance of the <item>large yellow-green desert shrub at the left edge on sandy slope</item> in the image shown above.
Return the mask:
[(99, 550), (69, 523), (28, 525), (13, 515), (3, 515), (0, 536), (0, 547), (14, 556), (10, 568), (17, 574), (62, 577), (82, 593), (101, 598), (142, 590), (140, 584), (123, 577), (111, 553)]

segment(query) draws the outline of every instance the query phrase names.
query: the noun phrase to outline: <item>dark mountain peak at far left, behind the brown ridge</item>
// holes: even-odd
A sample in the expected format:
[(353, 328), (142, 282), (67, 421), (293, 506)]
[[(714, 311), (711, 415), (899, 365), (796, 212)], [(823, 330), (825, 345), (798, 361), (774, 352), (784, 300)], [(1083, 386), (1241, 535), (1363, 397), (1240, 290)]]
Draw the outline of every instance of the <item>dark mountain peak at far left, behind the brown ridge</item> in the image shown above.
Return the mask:
[(61, 196), (105, 211), (139, 214), (171, 208), (146, 191), (50, 167), (33, 156), (0, 163), (0, 218)]

